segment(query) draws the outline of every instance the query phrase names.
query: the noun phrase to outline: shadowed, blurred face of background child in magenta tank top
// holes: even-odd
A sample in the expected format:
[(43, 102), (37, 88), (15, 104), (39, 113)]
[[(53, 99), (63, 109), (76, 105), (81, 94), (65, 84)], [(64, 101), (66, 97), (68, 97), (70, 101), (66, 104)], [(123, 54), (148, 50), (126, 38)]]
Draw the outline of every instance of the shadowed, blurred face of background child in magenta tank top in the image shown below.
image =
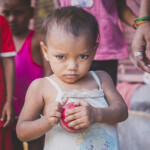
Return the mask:
[(28, 30), (29, 19), (33, 12), (21, 0), (5, 0), (2, 3), (1, 11), (7, 18), (13, 35), (20, 35)]

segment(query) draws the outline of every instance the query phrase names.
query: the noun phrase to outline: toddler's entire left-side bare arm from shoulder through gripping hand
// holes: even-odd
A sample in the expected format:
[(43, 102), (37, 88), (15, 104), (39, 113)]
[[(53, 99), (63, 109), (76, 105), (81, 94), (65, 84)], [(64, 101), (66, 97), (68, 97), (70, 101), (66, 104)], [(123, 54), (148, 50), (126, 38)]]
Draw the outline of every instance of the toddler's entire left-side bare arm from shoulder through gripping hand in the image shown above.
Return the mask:
[[(63, 105), (55, 102), (55, 99), (52, 101), (53, 94), (49, 93), (54, 92), (47, 85), (47, 80), (37, 79), (27, 91), (17, 123), (17, 135), (21, 141), (38, 138), (59, 122)], [(40, 114), (44, 115), (40, 117)]]

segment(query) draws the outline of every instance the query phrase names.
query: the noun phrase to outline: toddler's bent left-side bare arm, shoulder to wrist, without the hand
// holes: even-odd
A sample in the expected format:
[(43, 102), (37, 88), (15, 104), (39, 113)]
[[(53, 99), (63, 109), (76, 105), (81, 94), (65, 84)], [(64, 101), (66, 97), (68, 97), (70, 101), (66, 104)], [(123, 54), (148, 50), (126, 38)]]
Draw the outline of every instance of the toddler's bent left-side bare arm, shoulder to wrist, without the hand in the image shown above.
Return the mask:
[(16, 128), (17, 136), (21, 141), (29, 141), (40, 137), (50, 128), (47, 118), (40, 118), (44, 107), (43, 84), (41, 83), (44, 82), (43, 80), (33, 81), (27, 90), (25, 104)]

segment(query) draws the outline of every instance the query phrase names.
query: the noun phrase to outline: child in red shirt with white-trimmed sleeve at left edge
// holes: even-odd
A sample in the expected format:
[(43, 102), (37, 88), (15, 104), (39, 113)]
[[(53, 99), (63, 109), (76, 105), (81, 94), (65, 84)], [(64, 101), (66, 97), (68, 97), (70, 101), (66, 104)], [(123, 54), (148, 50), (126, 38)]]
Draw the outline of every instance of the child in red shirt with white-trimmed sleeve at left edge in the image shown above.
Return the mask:
[(0, 149), (13, 150), (11, 125), (14, 118), (16, 55), (8, 22), (0, 16)]

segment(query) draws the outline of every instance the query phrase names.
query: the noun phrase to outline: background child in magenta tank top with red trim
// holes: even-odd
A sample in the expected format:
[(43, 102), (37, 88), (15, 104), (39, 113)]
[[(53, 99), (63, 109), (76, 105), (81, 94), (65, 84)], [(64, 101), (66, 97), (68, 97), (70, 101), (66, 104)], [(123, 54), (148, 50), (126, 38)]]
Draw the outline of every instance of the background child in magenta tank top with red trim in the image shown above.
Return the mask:
[[(17, 51), (17, 56), (15, 57), (15, 114), (19, 116), (30, 83), (36, 78), (50, 75), (51, 69), (41, 53), (40, 35), (28, 27), (34, 13), (31, 0), (2, 1), (1, 11), (10, 24)], [(13, 132), (13, 141), (15, 150), (23, 149), (22, 142), (17, 139), (15, 130)], [(29, 150), (42, 150), (44, 137), (28, 144)]]

